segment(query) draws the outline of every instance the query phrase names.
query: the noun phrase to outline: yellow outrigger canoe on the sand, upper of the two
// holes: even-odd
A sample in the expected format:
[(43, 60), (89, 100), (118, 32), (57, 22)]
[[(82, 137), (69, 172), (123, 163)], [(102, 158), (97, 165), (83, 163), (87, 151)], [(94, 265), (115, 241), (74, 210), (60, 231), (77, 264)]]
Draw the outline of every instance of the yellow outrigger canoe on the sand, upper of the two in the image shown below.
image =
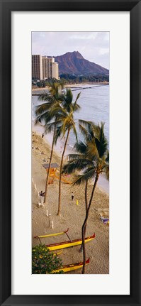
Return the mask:
[[(85, 243), (91, 241), (95, 238), (95, 233), (93, 236), (89, 236), (85, 238)], [(70, 248), (71, 246), (79, 246), (81, 244), (82, 239), (76, 239), (72, 241), (63, 241), (58, 244), (46, 244), (47, 248), (50, 251), (59, 250), (60, 248)]]

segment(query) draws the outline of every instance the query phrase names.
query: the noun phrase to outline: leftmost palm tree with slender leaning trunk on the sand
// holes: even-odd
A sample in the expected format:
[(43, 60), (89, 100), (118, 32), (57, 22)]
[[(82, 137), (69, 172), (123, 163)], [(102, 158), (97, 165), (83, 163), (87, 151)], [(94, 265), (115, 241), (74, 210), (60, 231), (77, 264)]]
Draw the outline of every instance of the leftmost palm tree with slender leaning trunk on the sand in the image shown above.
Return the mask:
[[(63, 88), (62, 84), (57, 83), (57, 82), (48, 82), (47, 84), (49, 85), (49, 92), (45, 92), (43, 94), (40, 94), (39, 96), (39, 100), (45, 103), (37, 106), (35, 110), (35, 114), (37, 116), (35, 119), (35, 124), (44, 122), (44, 128), (45, 128), (44, 133), (50, 133), (51, 131), (53, 131), (52, 147), (51, 147), (51, 152), (50, 152), (50, 163), (49, 163), (47, 179), (45, 183), (45, 204), (47, 204), (47, 187), (48, 187), (49, 178), (50, 178), (52, 154), (53, 154), (53, 149), (55, 145), (57, 111), (58, 109), (60, 109), (60, 103), (62, 102), (62, 99), (64, 96), (62, 92), (62, 88)], [(56, 114), (56, 117), (55, 117), (55, 114)], [(50, 121), (52, 121), (54, 117), (56, 120), (50, 123)]]

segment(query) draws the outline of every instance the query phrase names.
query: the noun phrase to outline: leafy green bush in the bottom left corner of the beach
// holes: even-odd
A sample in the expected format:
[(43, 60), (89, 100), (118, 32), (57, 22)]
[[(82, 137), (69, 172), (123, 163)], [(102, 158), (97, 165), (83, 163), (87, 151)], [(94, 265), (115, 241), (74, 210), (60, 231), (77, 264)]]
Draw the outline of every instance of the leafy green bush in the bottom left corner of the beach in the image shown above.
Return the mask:
[(53, 255), (47, 246), (35, 246), (32, 249), (32, 274), (60, 274), (60, 272), (53, 272), (62, 266), (62, 261), (57, 255)]

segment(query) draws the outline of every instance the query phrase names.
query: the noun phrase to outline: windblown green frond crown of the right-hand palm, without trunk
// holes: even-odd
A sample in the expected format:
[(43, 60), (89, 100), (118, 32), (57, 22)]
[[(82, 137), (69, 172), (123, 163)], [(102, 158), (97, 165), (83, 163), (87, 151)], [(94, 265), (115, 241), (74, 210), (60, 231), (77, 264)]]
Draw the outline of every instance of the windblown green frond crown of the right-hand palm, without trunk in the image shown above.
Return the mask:
[(108, 141), (104, 135), (104, 124), (94, 124), (91, 121), (79, 120), (79, 129), (84, 141), (78, 141), (74, 148), (77, 154), (69, 154), (69, 161), (64, 165), (62, 173), (75, 173), (74, 184), (81, 184), (96, 178), (100, 173), (106, 173), (109, 179)]

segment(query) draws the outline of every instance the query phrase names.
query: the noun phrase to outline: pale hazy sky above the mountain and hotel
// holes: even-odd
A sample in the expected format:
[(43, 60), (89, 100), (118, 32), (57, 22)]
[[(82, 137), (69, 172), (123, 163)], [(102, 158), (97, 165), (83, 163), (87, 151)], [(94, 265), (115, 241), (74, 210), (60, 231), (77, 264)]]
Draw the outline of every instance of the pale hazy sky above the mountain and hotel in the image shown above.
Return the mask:
[(109, 69), (109, 32), (32, 32), (32, 54), (57, 56), (79, 51)]

